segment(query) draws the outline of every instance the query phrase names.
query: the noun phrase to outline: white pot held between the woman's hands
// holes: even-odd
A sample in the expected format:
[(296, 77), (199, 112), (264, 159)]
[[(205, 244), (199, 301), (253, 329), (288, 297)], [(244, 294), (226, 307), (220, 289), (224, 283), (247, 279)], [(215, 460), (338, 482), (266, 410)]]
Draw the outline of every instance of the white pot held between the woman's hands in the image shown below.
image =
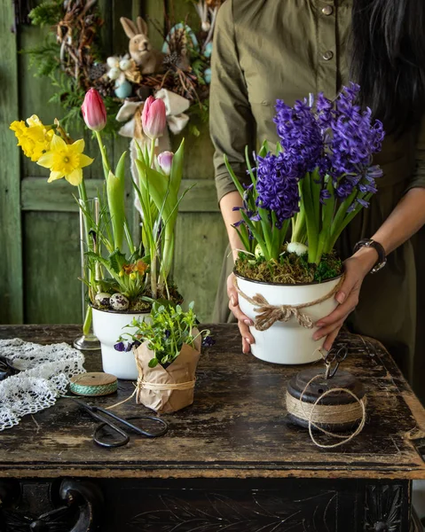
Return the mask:
[[(309, 285), (279, 285), (252, 281), (237, 274), (236, 277), (241, 292), (250, 298), (260, 293), (271, 305), (299, 305), (318, 300), (327, 295), (340, 281), (340, 278), (334, 278), (324, 283)], [(239, 296), (239, 304), (242, 312), (254, 321), (257, 315), (255, 306), (242, 296)], [(327, 301), (302, 311), (315, 323), (330, 314), (336, 306), (333, 295)], [(275, 364), (309, 364), (321, 358), (319, 348), (323, 346), (325, 339), (314, 341), (312, 336), (317, 327), (302, 327), (294, 316), (287, 322), (276, 322), (267, 331), (257, 331), (255, 327), (249, 329), (256, 339), (256, 343), (251, 346), (251, 352), (261, 360)]]

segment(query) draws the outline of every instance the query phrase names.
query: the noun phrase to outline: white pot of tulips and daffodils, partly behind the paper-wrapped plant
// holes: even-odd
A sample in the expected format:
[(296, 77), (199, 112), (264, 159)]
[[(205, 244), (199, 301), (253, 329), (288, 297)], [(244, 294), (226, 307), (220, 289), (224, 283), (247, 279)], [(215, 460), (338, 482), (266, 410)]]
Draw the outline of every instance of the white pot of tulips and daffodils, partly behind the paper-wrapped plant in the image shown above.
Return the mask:
[[(136, 332), (136, 327), (127, 327), (136, 317), (144, 321), (149, 314), (128, 314), (93, 308), (93, 331), (100, 341), (102, 367), (106, 373), (112, 373), (118, 379), (138, 379), (138, 367), (133, 351), (117, 351), (114, 345), (124, 332)], [(125, 329), (124, 329), (125, 327)]]

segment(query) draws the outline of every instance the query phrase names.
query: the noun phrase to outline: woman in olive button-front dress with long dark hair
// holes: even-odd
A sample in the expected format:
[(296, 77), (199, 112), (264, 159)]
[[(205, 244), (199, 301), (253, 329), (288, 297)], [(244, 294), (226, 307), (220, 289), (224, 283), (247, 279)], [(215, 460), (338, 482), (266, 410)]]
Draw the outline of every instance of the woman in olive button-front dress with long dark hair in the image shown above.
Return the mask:
[[(233, 260), (242, 247), (232, 224), (241, 199), (223, 156), (248, 182), (245, 146), (277, 142), (272, 118), (276, 99), (288, 105), (323, 91), (335, 98), (350, 81), (361, 102), (383, 121), (387, 136), (374, 164), (384, 175), (370, 207), (350, 223), (337, 247), (346, 276), (339, 305), (320, 319), (315, 339), (329, 349), (344, 321), (354, 332), (389, 348), (412, 378), (418, 312), (418, 250), (411, 239), (425, 223), (425, 2), (423, 0), (226, 0), (216, 24), (210, 100), (210, 133), (216, 148), (216, 189), (232, 254), (224, 262), (216, 299), (216, 321), (238, 320), (242, 348), (254, 338), (232, 285)], [(373, 246), (361, 246), (361, 239)], [(422, 240), (422, 242), (421, 242)], [(417, 256), (415, 257), (415, 253)], [(388, 256), (385, 267), (370, 274)], [(381, 265), (381, 264), (380, 264)], [(419, 279), (421, 280), (421, 279)]]

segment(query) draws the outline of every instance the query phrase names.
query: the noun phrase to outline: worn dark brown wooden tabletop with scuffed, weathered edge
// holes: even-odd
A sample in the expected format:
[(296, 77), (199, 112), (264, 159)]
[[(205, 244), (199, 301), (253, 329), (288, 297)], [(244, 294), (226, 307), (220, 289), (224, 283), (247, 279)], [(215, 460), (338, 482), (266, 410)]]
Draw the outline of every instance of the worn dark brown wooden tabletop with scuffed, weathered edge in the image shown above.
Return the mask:
[[(193, 406), (164, 416), (169, 433), (160, 440), (132, 436), (125, 447), (100, 449), (91, 439), (95, 423), (62, 398), (1, 434), (1, 476), (425, 479), (425, 464), (407, 437), (421, 435), (425, 411), (378, 342), (341, 335), (339, 342), (350, 347), (343, 368), (366, 387), (367, 423), (349, 444), (320, 450), (306, 430), (286, 419), (287, 380), (300, 368), (242, 355), (235, 325), (211, 330), (216, 345), (201, 356)], [(77, 334), (71, 325), (0, 326), (0, 338), (40, 343), (70, 342)], [(98, 354), (87, 355), (85, 367), (98, 371)], [(116, 395), (87, 401), (110, 406), (133, 390), (121, 381)], [(131, 400), (115, 412), (130, 417), (148, 411)]]

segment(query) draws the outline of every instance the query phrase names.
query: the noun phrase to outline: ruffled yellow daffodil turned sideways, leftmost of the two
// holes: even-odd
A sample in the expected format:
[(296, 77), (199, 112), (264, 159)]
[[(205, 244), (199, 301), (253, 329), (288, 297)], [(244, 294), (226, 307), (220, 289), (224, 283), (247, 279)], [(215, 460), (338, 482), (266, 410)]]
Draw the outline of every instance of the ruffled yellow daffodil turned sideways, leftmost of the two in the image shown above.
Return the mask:
[(51, 128), (44, 126), (36, 114), (30, 116), (27, 123), (28, 126), (24, 121), (13, 121), (10, 128), (18, 138), (18, 145), (23, 153), (29, 159), (37, 161), (50, 149), (54, 133)]

